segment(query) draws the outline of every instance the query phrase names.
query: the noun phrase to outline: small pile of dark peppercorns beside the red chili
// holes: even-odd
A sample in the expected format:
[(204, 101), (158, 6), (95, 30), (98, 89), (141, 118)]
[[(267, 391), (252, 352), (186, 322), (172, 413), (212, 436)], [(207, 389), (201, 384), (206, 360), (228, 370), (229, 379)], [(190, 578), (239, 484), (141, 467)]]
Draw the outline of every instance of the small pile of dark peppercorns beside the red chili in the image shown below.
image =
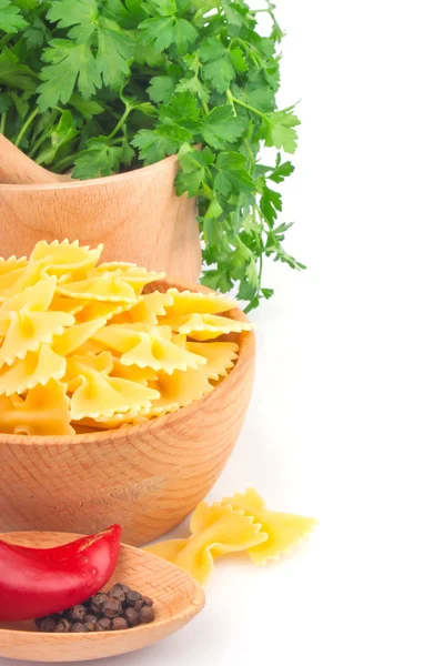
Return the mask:
[(39, 632), (79, 634), (118, 632), (149, 624), (153, 619), (152, 599), (123, 583), (117, 583), (109, 592), (99, 593), (83, 604), (36, 619), (36, 625)]

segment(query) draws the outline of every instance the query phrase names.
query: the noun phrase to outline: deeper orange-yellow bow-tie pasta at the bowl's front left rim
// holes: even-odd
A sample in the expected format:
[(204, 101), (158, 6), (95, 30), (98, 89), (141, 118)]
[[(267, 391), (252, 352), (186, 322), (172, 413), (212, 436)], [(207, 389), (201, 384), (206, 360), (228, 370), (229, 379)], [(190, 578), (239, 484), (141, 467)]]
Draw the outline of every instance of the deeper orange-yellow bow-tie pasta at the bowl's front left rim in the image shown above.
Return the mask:
[(0, 431), (22, 435), (72, 435), (71, 413), (64, 384), (51, 380), (19, 395), (0, 396)]

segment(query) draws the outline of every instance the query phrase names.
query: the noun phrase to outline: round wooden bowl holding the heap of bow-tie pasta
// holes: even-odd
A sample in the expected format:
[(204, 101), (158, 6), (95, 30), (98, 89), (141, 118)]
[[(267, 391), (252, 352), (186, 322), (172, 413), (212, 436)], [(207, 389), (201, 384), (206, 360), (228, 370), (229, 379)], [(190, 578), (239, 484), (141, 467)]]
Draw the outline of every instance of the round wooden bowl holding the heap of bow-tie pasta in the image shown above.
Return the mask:
[[(209, 291), (172, 282), (153, 283)], [(228, 313), (246, 321), (240, 310)], [(254, 376), (254, 334), (231, 336), (239, 359), (202, 400), (140, 425), (73, 436), (0, 434), (0, 531), (93, 534), (113, 523), (148, 543), (172, 529), (221, 474), (241, 431)]]

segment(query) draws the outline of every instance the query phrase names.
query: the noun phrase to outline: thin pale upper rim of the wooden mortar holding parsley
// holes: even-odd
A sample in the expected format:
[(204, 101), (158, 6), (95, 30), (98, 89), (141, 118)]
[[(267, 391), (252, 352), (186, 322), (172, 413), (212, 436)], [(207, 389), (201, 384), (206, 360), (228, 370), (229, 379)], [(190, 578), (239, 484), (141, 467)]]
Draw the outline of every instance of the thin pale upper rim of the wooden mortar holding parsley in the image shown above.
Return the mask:
[(40, 192), (40, 191), (53, 191), (53, 190), (79, 190), (85, 188), (97, 188), (102, 185), (114, 185), (134, 178), (142, 178), (145, 175), (154, 174), (155, 172), (162, 173), (171, 169), (179, 162), (178, 154), (164, 158), (154, 164), (148, 167), (140, 167), (132, 171), (124, 171), (123, 173), (114, 173), (112, 175), (103, 175), (101, 178), (89, 178), (85, 180), (67, 180), (54, 183), (42, 183), (42, 184), (28, 184), (28, 185), (11, 185), (8, 183), (0, 183), (0, 195), (4, 192)]

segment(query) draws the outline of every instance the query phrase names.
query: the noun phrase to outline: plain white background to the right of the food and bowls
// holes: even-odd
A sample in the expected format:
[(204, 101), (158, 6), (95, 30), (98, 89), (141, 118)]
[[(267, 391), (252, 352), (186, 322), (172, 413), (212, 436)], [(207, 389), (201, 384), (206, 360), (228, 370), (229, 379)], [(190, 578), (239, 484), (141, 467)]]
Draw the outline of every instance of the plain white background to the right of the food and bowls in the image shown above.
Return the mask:
[(221, 561), (193, 623), (107, 666), (444, 663), (440, 2), (275, 2), (280, 102), (303, 120), (287, 248), (310, 270), (268, 272), (251, 408), (210, 498), (253, 485), (321, 523), (265, 571)]

